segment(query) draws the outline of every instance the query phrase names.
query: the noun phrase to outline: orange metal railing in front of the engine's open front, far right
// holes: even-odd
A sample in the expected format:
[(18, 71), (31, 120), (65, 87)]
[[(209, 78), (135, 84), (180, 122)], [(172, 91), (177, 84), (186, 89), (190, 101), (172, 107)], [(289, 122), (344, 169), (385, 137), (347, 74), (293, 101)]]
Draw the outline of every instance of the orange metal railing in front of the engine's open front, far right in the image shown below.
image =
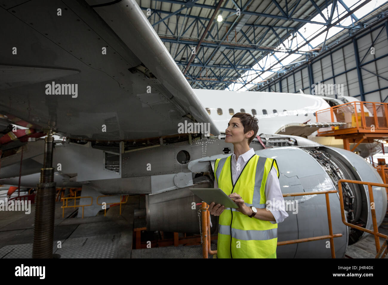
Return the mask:
[[(388, 187), (387, 184), (381, 184), (381, 183), (373, 183), (373, 182), (365, 182), (365, 181), (357, 181), (357, 180), (347, 180), (347, 179), (340, 179), (338, 180), (338, 192), (340, 193), (340, 206), (341, 206), (341, 217), (342, 217), (342, 222), (346, 226), (350, 226), (351, 228), (355, 228), (360, 231), (366, 231), (367, 233), (371, 233), (374, 235), (374, 243), (376, 245), (376, 258), (379, 256), (379, 251), (380, 251), (380, 241), (379, 237), (387, 239), (387, 235), (383, 235), (382, 233), (379, 233), (378, 227), (377, 227), (377, 221), (376, 221), (376, 210), (374, 209), (374, 206), (371, 207), (371, 212), (372, 212), (372, 223), (373, 223), (373, 231), (368, 230), (366, 228), (362, 228), (360, 226), (352, 225), (348, 222), (345, 221), (345, 209), (343, 205), (343, 196), (342, 196), (342, 182), (346, 183), (355, 183), (355, 184), (363, 184), (363, 185), (368, 185), (368, 193), (369, 193), (369, 203), (371, 205), (374, 205), (374, 198), (373, 198), (373, 191), (372, 191), (372, 186), (379, 186), (379, 187)], [(386, 247), (386, 242), (384, 244)], [(385, 249), (385, 254), (386, 254), (386, 249)], [(385, 254), (382, 256), (384, 258)]]

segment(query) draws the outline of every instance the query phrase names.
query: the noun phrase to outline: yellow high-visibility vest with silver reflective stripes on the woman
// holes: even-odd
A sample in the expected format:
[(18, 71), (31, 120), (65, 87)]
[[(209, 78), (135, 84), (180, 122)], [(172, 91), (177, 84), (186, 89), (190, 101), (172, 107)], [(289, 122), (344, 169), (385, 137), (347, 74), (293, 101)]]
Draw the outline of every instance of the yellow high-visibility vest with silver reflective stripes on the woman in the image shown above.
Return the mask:
[[(238, 193), (246, 206), (265, 208), (265, 183), (275, 159), (252, 155), (233, 185), (232, 155), (217, 159), (214, 165), (218, 187), (227, 195)], [(276, 258), (277, 224), (249, 218), (234, 208), (226, 208), (218, 222), (218, 258)]]

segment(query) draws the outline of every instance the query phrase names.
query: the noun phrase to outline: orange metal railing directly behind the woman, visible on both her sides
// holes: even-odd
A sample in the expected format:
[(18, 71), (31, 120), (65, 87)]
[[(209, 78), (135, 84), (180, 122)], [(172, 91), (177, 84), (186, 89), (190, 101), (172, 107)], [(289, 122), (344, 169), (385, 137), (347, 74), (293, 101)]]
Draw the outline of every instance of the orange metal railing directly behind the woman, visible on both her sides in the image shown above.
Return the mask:
[[(341, 233), (334, 233), (333, 228), (331, 226), (331, 212), (330, 212), (330, 203), (329, 203), (329, 193), (337, 193), (337, 190), (327, 190), (320, 192), (298, 192), (298, 193), (287, 193), (283, 194), (283, 197), (293, 197), (293, 196), (304, 196), (304, 195), (316, 195), (316, 194), (325, 194), (326, 195), (326, 210), (327, 210), (327, 222), (329, 224), (329, 235), (322, 235), (319, 237), (309, 237), (309, 238), (299, 238), (297, 240), (286, 240), (284, 242), (277, 242), (277, 245), (286, 245), (286, 244), (297, 244), (300, 242), (312, 242), (314, 240), (330, 240), (330, 249), (331, 249), (331, 257), (336, 258), (335, 250), (334, 250), (334, 240), (335, 237), (342, 237)], [(202, 254), (203, 258), (208, 258), (208, 254), (217, 254), (217, 250), (210, 250), (210, 212), (208, 211), (209, 206), (203, 202), (201, 206), (202, 213)], [(208, 214), (206, 214), (208, 212)]]

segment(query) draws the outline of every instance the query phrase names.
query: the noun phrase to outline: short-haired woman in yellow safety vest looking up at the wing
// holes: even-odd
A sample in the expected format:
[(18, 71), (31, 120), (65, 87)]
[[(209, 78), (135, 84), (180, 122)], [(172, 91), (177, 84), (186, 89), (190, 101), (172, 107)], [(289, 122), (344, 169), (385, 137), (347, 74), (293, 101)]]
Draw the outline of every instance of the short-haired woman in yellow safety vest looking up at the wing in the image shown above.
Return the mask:
[(238, 206), (230, 209), (214, 202), (209, 206), (212, 215), (220, 216), (218, 258), (276, 258), (277, 223), (288, 214), (272, 208), (272, 199), (284, 201), (276, 160), (256, 155), (249, 148), (257, 131), (255, 117), (234, 114), (225, 130), (225, 142), (233, 143), (234, 153), (215, 162), (214, 187)]

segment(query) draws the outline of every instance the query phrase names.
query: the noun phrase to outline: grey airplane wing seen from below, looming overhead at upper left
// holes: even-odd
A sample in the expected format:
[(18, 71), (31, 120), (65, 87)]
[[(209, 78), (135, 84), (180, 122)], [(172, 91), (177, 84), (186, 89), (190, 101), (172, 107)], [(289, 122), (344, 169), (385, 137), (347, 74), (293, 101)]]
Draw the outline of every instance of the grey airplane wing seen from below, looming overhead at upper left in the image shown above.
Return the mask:
[(219, 135), (137, 3), (104, 2), (2, 1), (0, 118), (95, 140), (173, 135), (185, 120)]

